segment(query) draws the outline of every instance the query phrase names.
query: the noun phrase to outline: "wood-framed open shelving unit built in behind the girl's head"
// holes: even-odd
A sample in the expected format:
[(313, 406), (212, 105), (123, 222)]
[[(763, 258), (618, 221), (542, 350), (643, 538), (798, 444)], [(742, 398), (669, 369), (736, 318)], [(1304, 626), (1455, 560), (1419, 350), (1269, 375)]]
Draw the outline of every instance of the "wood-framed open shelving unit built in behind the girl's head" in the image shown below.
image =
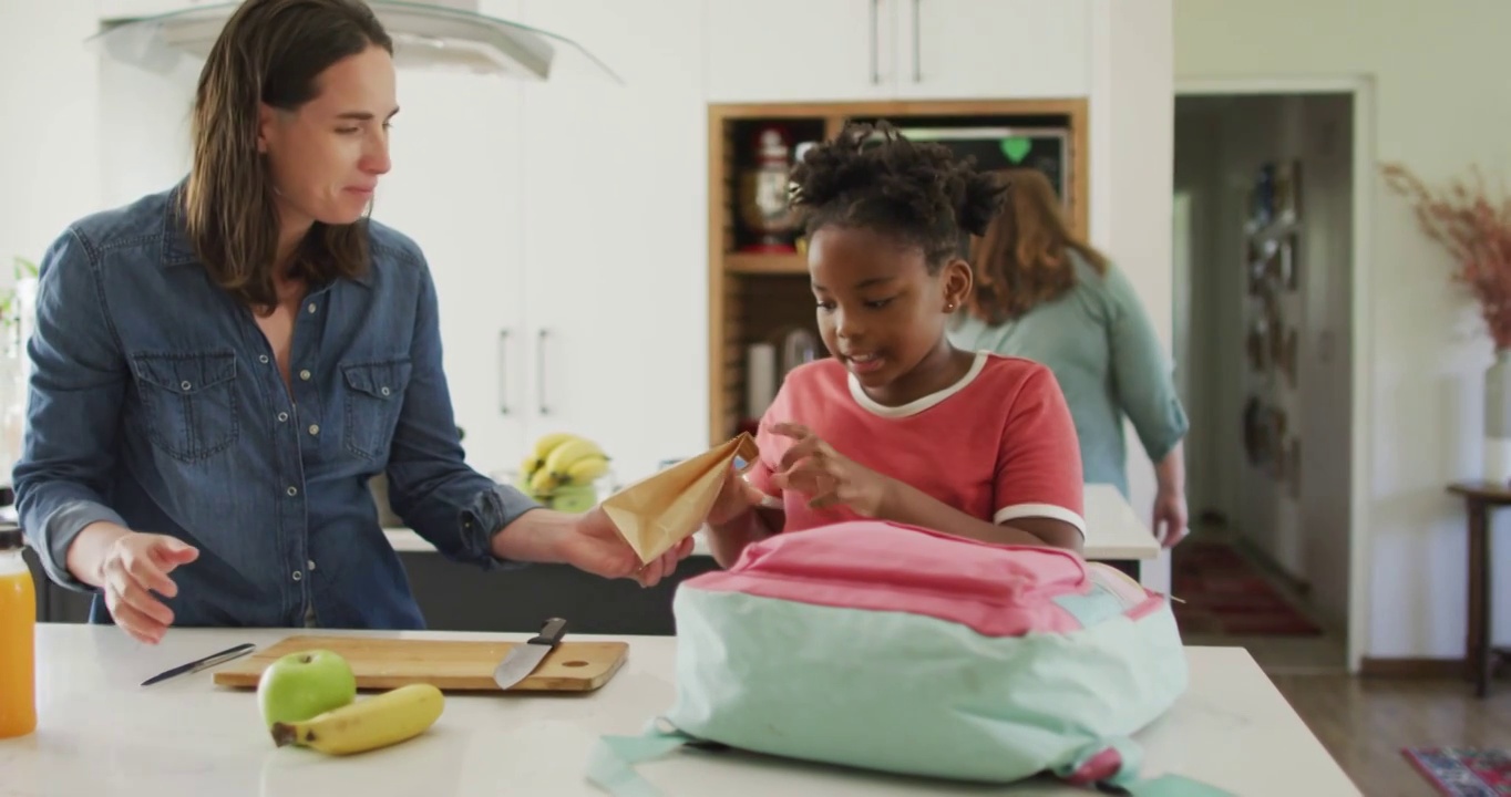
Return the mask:
[[(795, 143), (828, 140), (848, 119), (887, 119), (904, 131), (928, 131), (944, 139), (981, 130), (1059, 136), (1062, 151), (1056, 168), (1065, 202), (1079, 231), (1085, 234), (1089, 228), (1085, 100), (709, 106), (710, 445), (728, 439), (745, 420), (746, 347), (772, 341), (780, 331), (793, 326), (807, 326), (817, 337), (805, 255), (742, 251), (748, 237), (739, 222), (734, 187), (749, 157), (748, 140), (759, 125), (769, 122), (783, 124)], [(1043, 162), (1041, 154), (1035, 158), (1020, 165)]]

